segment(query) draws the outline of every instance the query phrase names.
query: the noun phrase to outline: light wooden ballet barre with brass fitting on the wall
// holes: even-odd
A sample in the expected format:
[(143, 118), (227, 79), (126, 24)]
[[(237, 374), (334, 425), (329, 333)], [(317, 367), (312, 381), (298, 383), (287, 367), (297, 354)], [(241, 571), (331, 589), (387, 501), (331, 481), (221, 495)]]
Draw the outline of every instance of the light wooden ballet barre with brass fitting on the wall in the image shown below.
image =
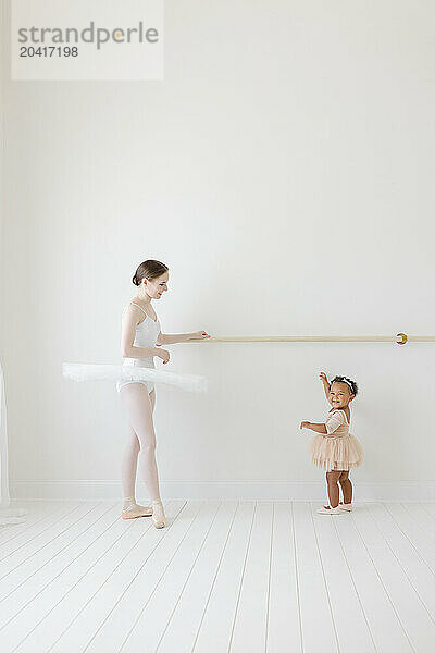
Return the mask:
[(434, 343), (435, 335), (225, 335), (188, 343)]

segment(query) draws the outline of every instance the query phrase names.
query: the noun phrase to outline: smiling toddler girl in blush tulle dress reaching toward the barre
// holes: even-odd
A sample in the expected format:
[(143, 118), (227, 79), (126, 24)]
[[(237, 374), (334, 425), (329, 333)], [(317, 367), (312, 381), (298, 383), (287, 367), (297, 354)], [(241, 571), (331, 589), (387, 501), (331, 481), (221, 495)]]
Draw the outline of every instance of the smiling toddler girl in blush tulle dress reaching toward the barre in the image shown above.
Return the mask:
[[(335, 377), (331, 384), (324, 372), (320, 373), (325, 395), (332, 408), (325, 423), (302, 421), (301, 429), (319, 433), (311, 442), (314, 465), (326, 470), (330, 505), (318, 510), (321, 515), (338, 515), (352, 509), (352, 483), (349, 471), (362, 463), (362, 447), (349, 433), (350, 402), (358, 394), (358, 385), (347, 377)], [(341, 486), (343, 503), (339, 502)]]

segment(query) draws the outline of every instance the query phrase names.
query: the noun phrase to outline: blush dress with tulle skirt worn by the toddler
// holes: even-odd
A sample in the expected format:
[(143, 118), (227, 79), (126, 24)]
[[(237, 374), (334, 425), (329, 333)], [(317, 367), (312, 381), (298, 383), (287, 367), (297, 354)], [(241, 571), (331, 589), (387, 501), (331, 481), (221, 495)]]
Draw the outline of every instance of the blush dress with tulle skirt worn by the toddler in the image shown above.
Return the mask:
[(325, 471), (349, 471), (362, 463), (363, 452), (360, 442), (349, 433), (346, 412), (336, 408), (325, 421), (325, 434), (311, 441), (311, 459)]

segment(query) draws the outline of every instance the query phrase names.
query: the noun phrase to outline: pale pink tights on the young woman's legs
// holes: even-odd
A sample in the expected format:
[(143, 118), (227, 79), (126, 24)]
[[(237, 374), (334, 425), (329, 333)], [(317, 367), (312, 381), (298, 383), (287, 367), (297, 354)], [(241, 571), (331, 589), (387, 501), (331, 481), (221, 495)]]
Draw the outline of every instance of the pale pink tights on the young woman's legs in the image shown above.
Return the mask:
[(124, 498), (135, 496), (136, 470), (139, 467), (151, 501), (160, 501), (159, 475), (156, 464), (156, 432), (152, 412), (156, 393), (148, 393), (142, 383), (128, 383), (120, 394), (127, 410), (128, 442), (122, 458), (122, 485)]

